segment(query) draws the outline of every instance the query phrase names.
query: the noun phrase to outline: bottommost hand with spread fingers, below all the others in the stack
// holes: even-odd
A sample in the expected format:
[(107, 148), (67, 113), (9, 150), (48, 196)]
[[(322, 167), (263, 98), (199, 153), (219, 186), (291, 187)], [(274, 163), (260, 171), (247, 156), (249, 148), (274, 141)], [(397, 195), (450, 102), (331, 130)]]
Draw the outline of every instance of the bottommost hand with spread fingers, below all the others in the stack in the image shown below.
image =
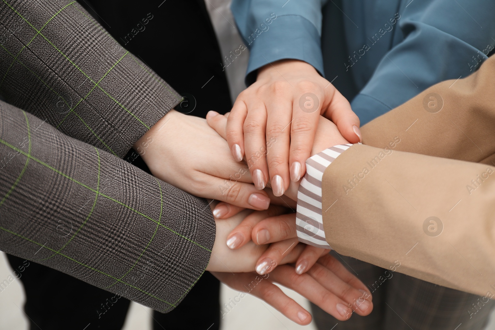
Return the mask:
[(328, 254), (302, 275), (298, 275), (290, 265), (279, 266), (263, 276), (256, 273), (212, 274), (228, 286), (266, 301), (299, 325), (309, 324), (311, 315), (273, 283), (280, 283), (297, 291), (341, 321), (348, 320), (353, 310), (361, 316), (366, 316), (373, 310), (368, 288)]

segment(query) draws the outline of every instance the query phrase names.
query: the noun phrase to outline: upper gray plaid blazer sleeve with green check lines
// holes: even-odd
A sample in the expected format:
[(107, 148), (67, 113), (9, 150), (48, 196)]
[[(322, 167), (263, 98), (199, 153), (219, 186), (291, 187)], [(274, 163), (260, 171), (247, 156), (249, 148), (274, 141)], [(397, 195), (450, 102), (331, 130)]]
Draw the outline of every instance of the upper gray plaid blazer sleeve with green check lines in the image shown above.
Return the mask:
[(181, 96), (77, 2), (0, 0), (0, 93), (123, 157)]

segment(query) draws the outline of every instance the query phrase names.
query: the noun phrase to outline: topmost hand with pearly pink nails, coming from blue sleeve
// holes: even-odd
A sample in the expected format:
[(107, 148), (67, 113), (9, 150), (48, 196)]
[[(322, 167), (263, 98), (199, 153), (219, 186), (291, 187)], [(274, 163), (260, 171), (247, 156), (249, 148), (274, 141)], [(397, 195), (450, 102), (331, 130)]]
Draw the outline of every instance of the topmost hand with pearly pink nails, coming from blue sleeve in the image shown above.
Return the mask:
[(226, 140), (235, 160), (246, 155), (255, 187), (271, 182), (281, 196), (305, 173), (320, 115), (348, 141), (360, 141), (359, 119), (331, 83), (303, 61), (277, 61), (259, 69), (256, 82), (237, 97)]

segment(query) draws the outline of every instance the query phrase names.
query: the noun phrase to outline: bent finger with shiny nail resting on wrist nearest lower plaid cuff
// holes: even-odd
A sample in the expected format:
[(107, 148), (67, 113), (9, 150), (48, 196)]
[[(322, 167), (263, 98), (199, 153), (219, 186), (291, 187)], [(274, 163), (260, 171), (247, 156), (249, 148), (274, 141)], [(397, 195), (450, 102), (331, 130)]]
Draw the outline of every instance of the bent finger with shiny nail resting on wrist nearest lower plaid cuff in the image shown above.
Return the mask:
[(262, 212), (252, 212), (227, 236), (227, 246), (237, 249), (251, 240), (251, 232), (254, 226), (261, 220), (286, 212), (280, 206), (270, 205), (268, 210)]

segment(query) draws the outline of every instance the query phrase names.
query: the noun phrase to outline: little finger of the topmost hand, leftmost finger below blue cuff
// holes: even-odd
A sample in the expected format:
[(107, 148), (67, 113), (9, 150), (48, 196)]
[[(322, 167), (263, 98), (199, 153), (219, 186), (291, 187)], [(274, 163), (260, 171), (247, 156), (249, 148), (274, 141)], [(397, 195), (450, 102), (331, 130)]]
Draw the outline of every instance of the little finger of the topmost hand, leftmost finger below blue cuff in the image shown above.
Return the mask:
[[(240, 96), (241, 97), (241, 96)], [(234, 159), (238, 162), (244, 157), (244, 122), (247, 116), (247, 106), (242, 98), (238, 97), (232, 111), (227, 118), (226, 140)]]

